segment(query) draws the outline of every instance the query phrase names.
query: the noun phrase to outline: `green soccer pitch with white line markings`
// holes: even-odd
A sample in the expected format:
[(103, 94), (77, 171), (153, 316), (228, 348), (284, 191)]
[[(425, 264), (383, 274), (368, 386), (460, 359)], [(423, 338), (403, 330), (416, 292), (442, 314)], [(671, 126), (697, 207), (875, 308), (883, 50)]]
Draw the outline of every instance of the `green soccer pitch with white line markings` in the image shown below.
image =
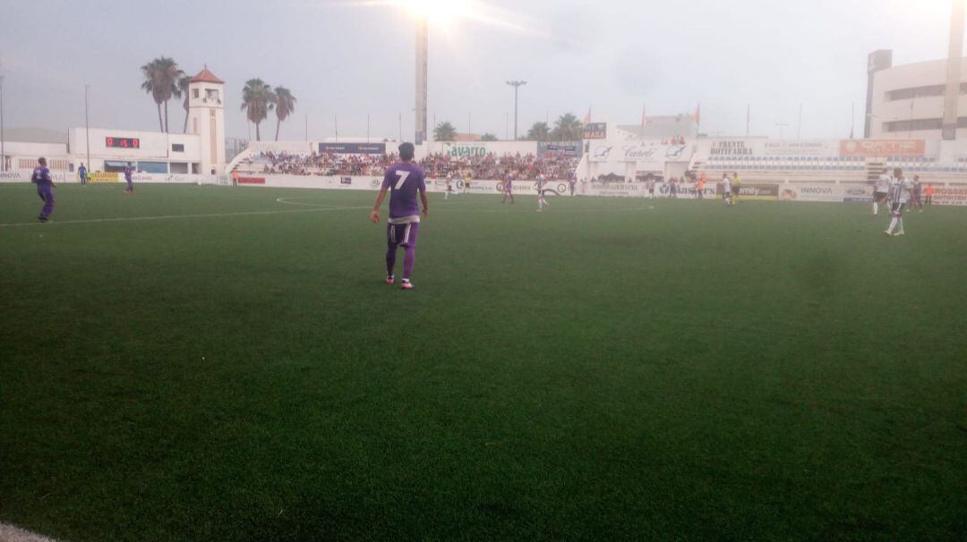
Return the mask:
[(0, 185), (2, 522), (967, 536), (965, 209), (430, 194), (407, 292), (375, 192), (136, 190)]

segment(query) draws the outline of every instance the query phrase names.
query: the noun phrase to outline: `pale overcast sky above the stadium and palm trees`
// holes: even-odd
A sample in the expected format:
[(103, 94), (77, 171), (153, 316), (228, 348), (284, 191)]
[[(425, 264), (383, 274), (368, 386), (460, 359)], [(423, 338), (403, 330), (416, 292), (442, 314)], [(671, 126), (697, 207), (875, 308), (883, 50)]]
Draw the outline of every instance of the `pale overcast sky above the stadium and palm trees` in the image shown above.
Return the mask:
[[(246, 137), (241, 89), (250, 77), (297, 97), (280, 139), (413, 137), (415, 24), (398, 7), (346, 0), (0, 0), (0, 74), (8, 128), (84, 124), (157, 130), (139, 67), (164, 55), (226, 84), (226, 129)], [(508, 79), (520, 92), (520, 131), (573, 112), (636, 124), (702, 107), (702, 131), (803, 137), (862, 132), (866, 55), (894, 64), (944, 58), (950, 0), (487, 0), (487, 20), (431, 28), (429, 122), (503, 138), (513, 125)], [(172, 130), (184, 122), (169, 104)], [(268, 125), (268, 126), (265, 126)], [(270, 114), (263, 139), (275, 132)], [(510, 127), (513, 134), (513, 126)], [(254, 137), (254, 131), (252, 131)]]

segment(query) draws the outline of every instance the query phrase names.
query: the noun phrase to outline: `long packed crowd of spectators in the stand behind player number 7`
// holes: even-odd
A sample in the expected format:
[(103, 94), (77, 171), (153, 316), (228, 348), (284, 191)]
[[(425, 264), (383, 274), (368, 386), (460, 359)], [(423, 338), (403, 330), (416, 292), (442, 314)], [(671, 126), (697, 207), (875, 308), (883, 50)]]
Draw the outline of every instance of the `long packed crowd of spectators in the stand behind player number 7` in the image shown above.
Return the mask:
[[(247, 158), (239, 169), (255, 173), (285, 175), (365, 175), (379, 176), (396, 161), (390, 155), (337, 155), (312, 153), (259, 153)], [(443, 179), (449, 176), (473, 179), (502, 179), (510, 173), (514, 179), (533, 181), (539, 175), (548, 180), (568, 179), (577, 167), (578, 158), (565, 155), (532, 154), (497, 156), (492, 153), (470, 157), (452, 157), (447, 154), (428, 155), (418, 163), (426, 170), (427, 177)]]

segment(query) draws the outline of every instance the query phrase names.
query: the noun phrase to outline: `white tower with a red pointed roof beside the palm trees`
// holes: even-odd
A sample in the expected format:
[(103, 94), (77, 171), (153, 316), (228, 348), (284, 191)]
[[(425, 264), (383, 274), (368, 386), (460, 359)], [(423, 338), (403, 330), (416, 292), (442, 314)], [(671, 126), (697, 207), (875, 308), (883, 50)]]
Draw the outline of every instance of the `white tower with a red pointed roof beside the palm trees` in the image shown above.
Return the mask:
[(188, 85), (188, 132), (201, 140), (201, 170), (225, 172), (225, 82), (208, 66), (191, 77)]

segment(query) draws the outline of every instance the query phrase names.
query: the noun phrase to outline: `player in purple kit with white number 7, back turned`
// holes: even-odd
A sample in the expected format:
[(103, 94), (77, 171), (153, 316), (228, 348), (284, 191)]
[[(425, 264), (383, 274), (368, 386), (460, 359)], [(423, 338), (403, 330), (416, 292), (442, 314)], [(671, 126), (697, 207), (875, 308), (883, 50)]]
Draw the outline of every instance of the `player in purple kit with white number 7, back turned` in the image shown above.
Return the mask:
[(390, 217), (386, 224), (386, 283), (393, 284), (394, 268), (396, 268), (396, 248), (406, 249), (403, 256), (403, 290), (413, 288), (410, 273), (416, 261), (417, 236), (420, 234), (420, 206), (417, 194), (423, 202), (423, 216), (429, 213), (429, 202), (426, 200), (426, 174), (423, 169), (413, 163), (415, 149), (412, 143), (399, 146), (399, 159), (386, 168), (383, 176), (383, 187), (376, 196), (376, 204), (372, 206), (369, 219), (379, 223), (379, 208), (386, 199), (386, 191), (390, 192)]

